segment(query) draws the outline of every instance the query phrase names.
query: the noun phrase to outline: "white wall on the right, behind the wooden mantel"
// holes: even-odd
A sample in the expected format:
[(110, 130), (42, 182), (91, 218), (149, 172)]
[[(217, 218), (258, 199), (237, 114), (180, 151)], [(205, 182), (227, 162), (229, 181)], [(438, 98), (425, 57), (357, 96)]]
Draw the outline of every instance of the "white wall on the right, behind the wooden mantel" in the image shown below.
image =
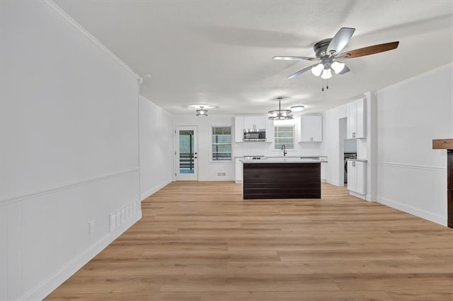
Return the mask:
[(447, 152), (453, 137), (452, 64), (378, 91), (377, 200), (447, 224)]

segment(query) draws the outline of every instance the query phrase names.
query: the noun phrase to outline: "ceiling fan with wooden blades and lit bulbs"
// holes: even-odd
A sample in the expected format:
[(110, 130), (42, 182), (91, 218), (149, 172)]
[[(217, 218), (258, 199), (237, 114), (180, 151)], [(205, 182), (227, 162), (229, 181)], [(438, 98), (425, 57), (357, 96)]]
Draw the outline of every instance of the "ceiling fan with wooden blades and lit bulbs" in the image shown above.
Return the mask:
[(324, 39), (317, 42), (314, 46), (316, 57), (273, 57), (273, 59), (283, 59), (289, 61), (321, 61), (314, 65), (308, 66), (296, 73), (288, 76), (287, 78), (294, 78), (302, 73), (311, 70), (314, 76), (321, 76), (323, 79), (332, 77), (333, 70), (336, 74), (345, 74), (350, 71), (348, 66), (338, 59), (352, 59), (355, 57), (364, 57), (369, 54), (377, 54), (379, 52), (386, 52), (391, 49), (396, 49), (399, 42), (389, 42), (379, 45), (372, 45), (355, 50), (340, 53), (343, 48), (348, 45), (355, 28), (340, 28), (338, 33), (333, 38)]

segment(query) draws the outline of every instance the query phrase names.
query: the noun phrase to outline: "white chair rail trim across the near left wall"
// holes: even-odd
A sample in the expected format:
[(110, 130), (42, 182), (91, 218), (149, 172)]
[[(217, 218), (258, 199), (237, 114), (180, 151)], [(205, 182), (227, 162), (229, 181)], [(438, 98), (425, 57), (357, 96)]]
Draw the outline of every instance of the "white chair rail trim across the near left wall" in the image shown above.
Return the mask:
[(16, 196), (6, 196), (3, 199), (0, 199), (0, 206), (6, 205), (8, 203), (14, 203), (16, 201), (23, 201), (25, 199), (34, 198), (34, 197), (37, 197), (37, 196), (43, 196), (45, 194), (52, 194), (53, 192), (62, 191), (62, 190), (66, 190), (66, 189), (69, 189), (69, 188), (84, 186), (86, 184), (102, 181), (102, 180), (109, 179), (109, 178), (112, 178), (112, 177), (119, 177), (120, 175), (127, 175), (127, 174), (130, 174), (132, 172), (138, 172), (139, 170), (140, 169), (136, 167), (136, 168), (132, 168), (130, 170), (122, 171), (122, 172), (113, 172), (111, 174), (102, 175), (100, 177), (93, 177), (91, 179), (85, 179), (85, 180), (79, 181), (79, 182), (67, 183), (67, 184), (60, 185), (58, 187), (51, 187), (51, 188), (48, 188), (48, 189), (45, 189), (45, 190), (42, 190), (42, 191), (38, 191), (38, 192), (33, 192), (33, 193), (30, 193), (30, 194), (23, 194), (23, 195), (16, 195)]

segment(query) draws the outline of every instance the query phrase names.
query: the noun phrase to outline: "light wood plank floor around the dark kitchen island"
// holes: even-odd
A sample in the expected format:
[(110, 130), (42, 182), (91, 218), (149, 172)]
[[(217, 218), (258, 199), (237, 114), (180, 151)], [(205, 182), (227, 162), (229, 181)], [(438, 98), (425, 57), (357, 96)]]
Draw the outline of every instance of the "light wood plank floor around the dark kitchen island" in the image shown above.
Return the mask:
[(453, 230), (343, 187), (322, 196), (243, 201), (233, 182), (173, 182), (48, 299), (453, 300)]

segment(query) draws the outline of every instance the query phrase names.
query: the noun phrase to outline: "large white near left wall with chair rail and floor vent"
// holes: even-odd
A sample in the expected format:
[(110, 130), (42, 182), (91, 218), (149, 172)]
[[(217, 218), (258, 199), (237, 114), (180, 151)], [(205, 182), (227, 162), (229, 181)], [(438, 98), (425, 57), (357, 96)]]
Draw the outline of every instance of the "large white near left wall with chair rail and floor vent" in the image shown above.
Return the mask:
[(0, 30), (0, 299), (36, 300), (141, 216), (138, 83), (52, 2), (1, 1)]

